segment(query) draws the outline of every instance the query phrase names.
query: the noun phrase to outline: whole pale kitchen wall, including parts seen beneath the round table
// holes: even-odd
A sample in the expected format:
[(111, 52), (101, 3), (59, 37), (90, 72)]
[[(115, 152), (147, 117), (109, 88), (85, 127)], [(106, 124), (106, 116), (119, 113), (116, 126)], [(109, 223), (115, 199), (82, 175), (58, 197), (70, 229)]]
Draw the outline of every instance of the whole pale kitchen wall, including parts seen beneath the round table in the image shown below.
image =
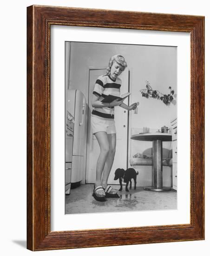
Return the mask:
[[(142, 132), (143, 127), (149, 127), (154, 132), (164, 125), (170, 127), (171, 119), (176, 117), (176, 100), (172, 101), (170, 106), (165, 106), (162, 101), (142, 97), (139, 90), (145, 88), (145, 81), (149, 81), (151, 87), (161, 93), (168, 94), (168, 88), (171, 86), (176, 94), (176, 47), (71, 42), (68, 88), (81, 90), (88, 99), (89, 68), (107, 67), (110, 57), (114, 54), (122, 54), (127, 61), (127, 68), (131, 71), (130, 104), (140, 102), (138, 114), (130, 112), (129, 137), (135, 132)], [(129, 140), (129, 159), (132, 155), (144, 153), (151, 147), (151, 142)], [(164, 142), (164, 147), (171, 149), (171, 142)], [(140, 173), (137, 186), (151, 185), (151, 166), (135, 168)], [(163, 177), (164, 186), (171, 186), (170, 167), (163, 167)]]

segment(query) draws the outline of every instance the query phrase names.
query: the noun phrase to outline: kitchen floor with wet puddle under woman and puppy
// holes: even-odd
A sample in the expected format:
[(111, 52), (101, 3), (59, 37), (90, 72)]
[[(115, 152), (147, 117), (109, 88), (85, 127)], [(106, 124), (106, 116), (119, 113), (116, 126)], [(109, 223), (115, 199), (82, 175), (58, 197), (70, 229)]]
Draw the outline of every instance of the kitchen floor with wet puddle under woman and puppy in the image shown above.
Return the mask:
[[(112, 185), (119, 189), (119, 185)], [(66, 214), (121, 212), (121, 211), (149, 211), (177, 209), (177, 191), (154, 192), (146, 191), (144, 187), (129, 192), (118, 191), (120, 198), (107, 198), (106, 202), (98, 202), (92, 196), (93, 184), (81, 184), (71, 189), (66, 195)]]

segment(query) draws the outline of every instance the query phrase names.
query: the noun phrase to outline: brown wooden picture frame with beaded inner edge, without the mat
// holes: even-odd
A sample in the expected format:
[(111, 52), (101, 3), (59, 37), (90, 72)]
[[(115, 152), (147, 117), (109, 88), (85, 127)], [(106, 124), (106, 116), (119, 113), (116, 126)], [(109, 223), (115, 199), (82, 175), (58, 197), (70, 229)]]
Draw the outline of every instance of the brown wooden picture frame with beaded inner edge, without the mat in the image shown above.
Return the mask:
[[(190, 224), (51, 231), (51, 25), (190, 33)], [(70, 7), (27, 7), (27, 249), (70, 249), (203, 239), (204, 17)]]

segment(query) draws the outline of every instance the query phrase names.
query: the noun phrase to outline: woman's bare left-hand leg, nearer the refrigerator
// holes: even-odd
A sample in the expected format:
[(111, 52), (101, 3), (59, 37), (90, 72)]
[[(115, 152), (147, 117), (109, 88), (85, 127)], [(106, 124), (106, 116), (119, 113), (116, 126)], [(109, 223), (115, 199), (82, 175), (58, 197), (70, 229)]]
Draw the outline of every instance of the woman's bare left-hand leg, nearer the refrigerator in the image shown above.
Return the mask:
[[(98, 185), (102, 185), (101, 184), (102, 171), (105, 167), (105, 162), (109, 154), (110, 146), (109, 146), (107, 133), (98, 132), (95, 134), (95, 136), (100, 147), (100, 154), (98, 156), (98, 161), (96, 164), (96, 182), (95, 182), (95, 186), (98, 186)], [(105, 192), (99, 191), (98, 194), (105, 195)]]

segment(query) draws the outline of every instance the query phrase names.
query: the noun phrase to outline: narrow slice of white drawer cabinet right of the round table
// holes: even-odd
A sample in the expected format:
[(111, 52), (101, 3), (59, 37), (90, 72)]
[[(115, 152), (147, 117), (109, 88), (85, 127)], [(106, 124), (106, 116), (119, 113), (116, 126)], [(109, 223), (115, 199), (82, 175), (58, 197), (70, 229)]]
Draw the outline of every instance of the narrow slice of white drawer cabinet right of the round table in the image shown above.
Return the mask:
[(172, 133), (172, 152), (173, 152), (173, 171), (172, 171), (172, 184), (173, 189), (177, 190), (177, 118), (171, 120), (171, 133)]

